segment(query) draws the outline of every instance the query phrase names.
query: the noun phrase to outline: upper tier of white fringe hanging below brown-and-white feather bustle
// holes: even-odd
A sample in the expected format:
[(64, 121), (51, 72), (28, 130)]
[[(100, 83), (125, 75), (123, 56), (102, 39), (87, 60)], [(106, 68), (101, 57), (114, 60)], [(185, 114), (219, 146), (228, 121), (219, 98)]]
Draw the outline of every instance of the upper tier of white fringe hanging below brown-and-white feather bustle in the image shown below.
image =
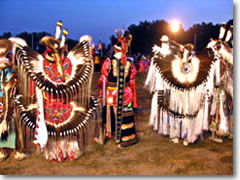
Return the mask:
[[(162, 90), (164, 94), (166, 94), (167, 91), (170, 91), (169, 106), (164, 107), (170, 112), (174, 112), (174, 114), (182, 114), (184, 116), (196, 116), (200, 108), (204, 105), (206, 94), (208, 93), (207, 96), (212, 94), (211, 91), (214, 86), (214, 66), (215, 64), (212, 64), (208, 78), (206, 81), (202, 82), (202, 84), (190, 89), (179, 89), (166, 81), (166, 79), (163, 79), (163, 77), (159, 75), (161, 73), (156, 65), (152, 64), (149, 72), (150, 74), (148, 76), (149, 78), (147, 78), (145, 87), (149, 87), (150, 92), (155, 93)], [(152, 107), (156, 107), (157, 95), (155, 93), (153, 97), (155, 105), (152, 104)], [(152, 124), (152, 121), (155, 117), (156, 114), (151, 115), (150, 124)]]

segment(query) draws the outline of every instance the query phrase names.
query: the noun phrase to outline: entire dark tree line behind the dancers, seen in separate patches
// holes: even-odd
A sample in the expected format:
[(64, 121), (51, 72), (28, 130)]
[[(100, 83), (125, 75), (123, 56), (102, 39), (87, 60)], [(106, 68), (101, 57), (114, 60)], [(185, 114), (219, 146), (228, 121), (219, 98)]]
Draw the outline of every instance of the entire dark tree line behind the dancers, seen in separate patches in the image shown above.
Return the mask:
[[(230, 19), (227, 23), (227, 27), (233, 25), (233, 19)], [(192, 43), (196, 45), (196, 51), (199, 51), (206, 47), (210, 38), (217, 39), (219, 34), (220, 24), (213, 24), (202, 22), (201, 24), (194, 24), (188, 30), (184, 30), (182, 26), (177, 33), (170, 31), (170, 24), (165, 20), (156, 21), (141, 21), (138, 25), (131, 24), (126, 31), (131, 33), (133, 36), (132, 43), (130, 46), (131, 54), (145, 54), (150, 55), (152, 51), (152, 46), (154, 44), (160, 43), (160, 38), (162, 35), (168, 35), (171, 39), (181, 43)], [(23, 38), (27, 44), (39, 53), (43, 53), (45, 47), (39, 44), (39, 41), (44, 36), (50, 36), (51, 34), (47, 32), (22, 32), (17, 34), (17, 37)], [(0, 38), (9, 38), (12, 36), (11, 32), (5, 32), (0, 35)], [(110, 43), (102, 43), (102, 54), (105, 55), (109, 53), (112, 45), (116, 42), (116, 36), (114, 34), (109, 37)], [(77, 40), (68, 39), (68, 48), (71, 50), (77, 43)]]

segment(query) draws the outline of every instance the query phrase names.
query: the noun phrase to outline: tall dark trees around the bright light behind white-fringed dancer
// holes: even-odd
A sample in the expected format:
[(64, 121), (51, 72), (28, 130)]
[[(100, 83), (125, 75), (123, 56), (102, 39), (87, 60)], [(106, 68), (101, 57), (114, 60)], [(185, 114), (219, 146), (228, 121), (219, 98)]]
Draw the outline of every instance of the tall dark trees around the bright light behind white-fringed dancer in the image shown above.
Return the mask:
[[(233, 24), (233, 19), (227, 22), (227, 27)], [(128, 27), (128, 31), (133, 35), (131, 43), (131, 52), (133, 54), (151, 54), (152, 46), (160, 43), (162, 35), (166, 34), (171, 39), (181, 43), (192, 43), (196, 45), (196, 51), (205, 48), (210, 38), (216, 39), (219, 34), (219, 25), (213, 23), (194, 24), (187, 31), (181, 26), (177, 33), (170, 30), (170, 24), (164, 20), (143, 21), (138, 25), (132, 24)], [(116, 42), (114, 35), (110, 36), (111, 44)]]

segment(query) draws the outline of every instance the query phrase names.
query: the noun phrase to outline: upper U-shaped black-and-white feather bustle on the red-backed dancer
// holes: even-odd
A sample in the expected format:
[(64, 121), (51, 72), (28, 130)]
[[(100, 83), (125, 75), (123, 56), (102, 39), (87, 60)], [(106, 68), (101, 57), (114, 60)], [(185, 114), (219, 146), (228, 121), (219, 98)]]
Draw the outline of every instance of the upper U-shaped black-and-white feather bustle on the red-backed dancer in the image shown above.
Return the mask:
[(54, 96), (72, 97), (72, 94), (76, 94), (82, 84), (91, 77), (93, 64), (89, 51), (89, 43), (84, 41), (69, 52), (68, 58), (73, 64), (73, 71), (66, 83), (55, 83), (49, 79), (43, 70), (43, 56), (30, 47), (18, 48), (16, 58), (22, 62), (26, 73), (32, 77), (40, 89), (48, 89)]

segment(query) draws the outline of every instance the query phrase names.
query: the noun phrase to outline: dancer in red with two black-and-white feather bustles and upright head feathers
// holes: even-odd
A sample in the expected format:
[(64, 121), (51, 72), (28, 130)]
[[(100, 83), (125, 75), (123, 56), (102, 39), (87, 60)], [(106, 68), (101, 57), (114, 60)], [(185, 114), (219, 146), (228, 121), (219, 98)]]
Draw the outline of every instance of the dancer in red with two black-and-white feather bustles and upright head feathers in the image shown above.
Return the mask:
[(68, 53), (67, 30), (57, 22), (56, 36), (45, 36), (43, 56), (23, 46), (15, 57), (18, 66), (18, 113), (29, 139), (44, 149), (45, 157), (77, 159), (93, 142), (97, 128), (97, 101), (90, 96), (93, 62), (91, 38), (83, 36)]

